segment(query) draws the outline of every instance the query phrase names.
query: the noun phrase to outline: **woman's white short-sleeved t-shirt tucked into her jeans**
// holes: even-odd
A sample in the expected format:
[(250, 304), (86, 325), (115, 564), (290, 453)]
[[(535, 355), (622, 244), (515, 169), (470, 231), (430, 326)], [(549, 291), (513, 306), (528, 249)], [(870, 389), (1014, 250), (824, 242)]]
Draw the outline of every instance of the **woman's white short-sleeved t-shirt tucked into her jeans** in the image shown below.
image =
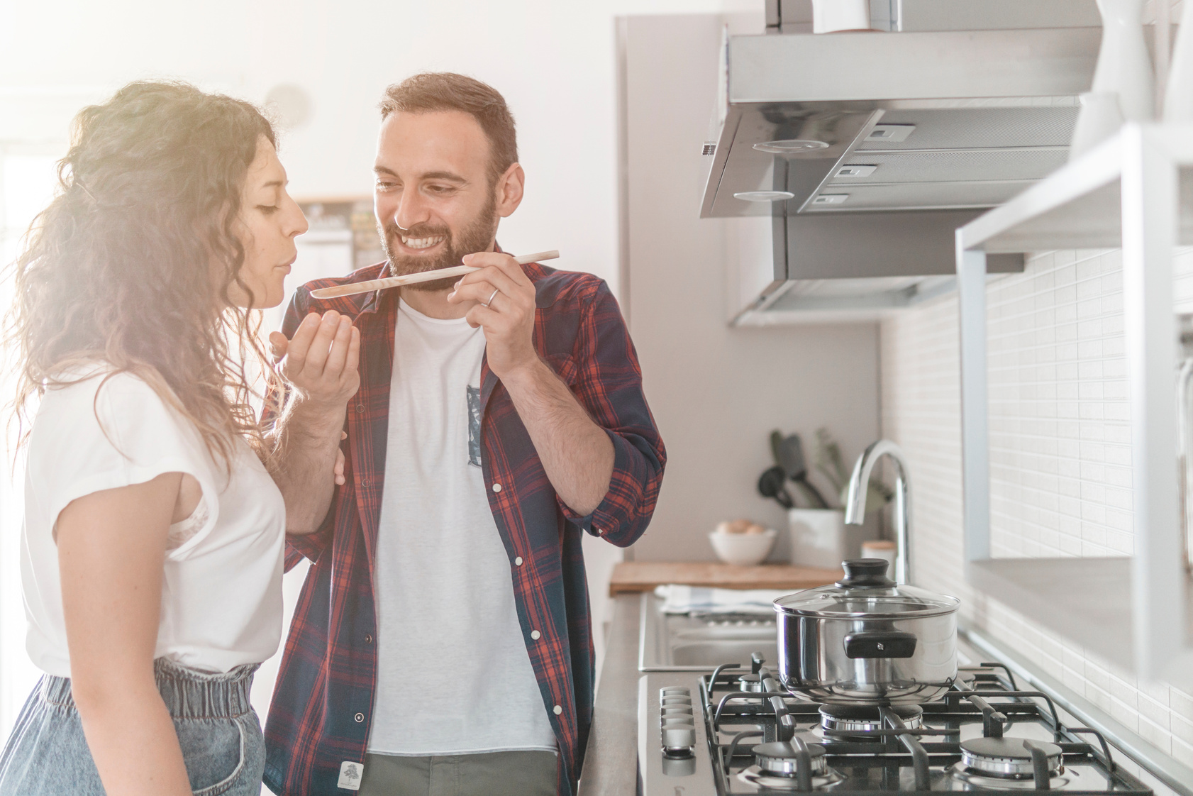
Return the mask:
[(282, 493), (243, 439), (229, 479), (194, 425), (146, 382), (130, 374), (101, 382), (97, 374), (47, 391), (33, 421), (20, 559), (30, 658), (70, 677), (55, 542), (61, 511), (94, 492), (188, 473), (203, 498), (171, 526), (154, 656), (209, 672), (264, 661), (282, 638)]

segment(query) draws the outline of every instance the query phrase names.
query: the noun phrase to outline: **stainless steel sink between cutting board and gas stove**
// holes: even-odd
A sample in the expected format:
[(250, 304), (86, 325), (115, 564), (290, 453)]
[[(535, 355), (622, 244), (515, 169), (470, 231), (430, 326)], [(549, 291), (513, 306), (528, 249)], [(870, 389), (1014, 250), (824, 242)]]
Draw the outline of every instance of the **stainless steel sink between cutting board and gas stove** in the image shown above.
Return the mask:
[(705, 671), (721, 664), (748, 665), (750, 653), (778, 659), (775, 623), (766, 615), (662, 612), (663, 600), (642, 596), (638, 671)]

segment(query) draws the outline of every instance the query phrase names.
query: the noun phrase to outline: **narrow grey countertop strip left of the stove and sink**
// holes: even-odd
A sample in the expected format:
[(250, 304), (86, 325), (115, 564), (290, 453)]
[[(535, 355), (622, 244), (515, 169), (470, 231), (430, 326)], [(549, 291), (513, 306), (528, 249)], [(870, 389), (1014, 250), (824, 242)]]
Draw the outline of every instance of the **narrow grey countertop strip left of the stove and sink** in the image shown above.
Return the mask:
[(614, 598), (579, 796), (633, 796), (638, 786), (638, 594)]

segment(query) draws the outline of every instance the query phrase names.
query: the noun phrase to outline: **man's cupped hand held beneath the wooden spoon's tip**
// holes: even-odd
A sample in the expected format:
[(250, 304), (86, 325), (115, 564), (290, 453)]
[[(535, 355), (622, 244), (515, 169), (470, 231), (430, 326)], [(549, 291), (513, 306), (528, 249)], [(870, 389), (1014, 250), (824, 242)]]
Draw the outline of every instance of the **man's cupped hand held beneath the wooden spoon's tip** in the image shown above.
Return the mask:
[(271, 332), (270, 345), (303, 402), (338, 412), (360, 388), (360, 331), (347, 315), (310, 313), (289, 340)]

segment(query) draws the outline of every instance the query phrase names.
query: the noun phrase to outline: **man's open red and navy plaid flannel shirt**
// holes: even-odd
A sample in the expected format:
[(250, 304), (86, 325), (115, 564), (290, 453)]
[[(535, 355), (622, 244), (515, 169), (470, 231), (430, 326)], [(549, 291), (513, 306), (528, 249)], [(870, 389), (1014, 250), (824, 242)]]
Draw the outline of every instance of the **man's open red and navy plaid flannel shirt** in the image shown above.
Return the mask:
[[(666, 452), (617, 301), (587, 273), (524, 266), (536, 288), (534, 347), (613, 442), (613, 477), (580, 517), (556, 495), (509, 394), (481, 365), (481, 463), (509, 557), (523, 637), (560, 748), (560, 794), (575, 792), (593, 711), (593, 643), (581, 532), (632, 544), (655, 508)], [(309, 291), (384, 276), (385, 264), (296, 291), (283, 331), (334, 309), (360, 329), (360, 390), (348, 402), (345, 475), (322, 527), (288, 537), (286, 567), (313, 564), (295, 610), (265, 728), (265, 783), (288, 796), (347, 794), (345, 763), (364, 763), (377, 681), (373, 555), (385, 470), (397, 291), (317, 301)], [(531, 638), (539, 630), (540, 637)], [(427, 661), (450, 698), (451, 661)], [(441, 678), (435, 675), (443, 674)]]

